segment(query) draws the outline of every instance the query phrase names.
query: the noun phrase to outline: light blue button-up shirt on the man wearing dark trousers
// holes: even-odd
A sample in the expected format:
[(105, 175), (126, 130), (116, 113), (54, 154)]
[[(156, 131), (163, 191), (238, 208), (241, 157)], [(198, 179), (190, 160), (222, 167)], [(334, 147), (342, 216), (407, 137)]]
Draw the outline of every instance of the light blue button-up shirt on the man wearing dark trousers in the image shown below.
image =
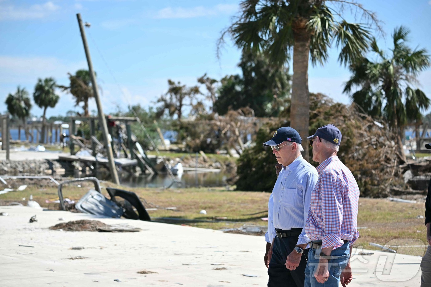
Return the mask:
[(317, 170), (301, 155), (290, 165), (282, 166), (272, 190), (272, 218), (268, 218), (268, 225), (273, 221), (271, 223), (274, 237), (275, 228), (282, 230), (303, 228), (297, 244), (309, 243), (304, 225), (310, 207), (311, 192), (318, 178)]

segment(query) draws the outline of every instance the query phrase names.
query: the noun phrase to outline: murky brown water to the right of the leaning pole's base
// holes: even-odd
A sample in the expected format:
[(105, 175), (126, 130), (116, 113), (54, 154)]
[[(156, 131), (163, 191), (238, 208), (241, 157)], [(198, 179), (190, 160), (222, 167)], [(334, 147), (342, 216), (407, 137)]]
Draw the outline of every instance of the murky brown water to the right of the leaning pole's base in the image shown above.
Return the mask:
[(225, 180), (229, 175), (224, 172), (187, 172), (182, 176), (174, 175), (175, 180), (180, 183), (172, 184), (173, 178), (167, 174), (141, 175), (138, 177), (120, 178), (120, 183), (129, 187), (219, 187), (225, 186)]

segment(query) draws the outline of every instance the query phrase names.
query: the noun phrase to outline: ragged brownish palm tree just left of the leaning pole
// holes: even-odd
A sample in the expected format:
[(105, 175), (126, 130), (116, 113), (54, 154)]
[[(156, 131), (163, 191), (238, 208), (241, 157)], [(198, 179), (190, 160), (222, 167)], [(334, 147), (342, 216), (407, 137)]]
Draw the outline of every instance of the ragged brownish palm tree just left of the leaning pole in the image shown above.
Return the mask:
[[(94, 73), (96, 74), (96, 73)], [(94, 97), (93, 87), (91, 84), (91, 76), (88, 70), (78, 70), (75, 75), (68, 73), (70, 86), (59, 86), (63, 91), (69, 92), (75, 97), (75, 106), (84, 103), (84, 116), (89, 116), (88, 113), (88, 100)]]

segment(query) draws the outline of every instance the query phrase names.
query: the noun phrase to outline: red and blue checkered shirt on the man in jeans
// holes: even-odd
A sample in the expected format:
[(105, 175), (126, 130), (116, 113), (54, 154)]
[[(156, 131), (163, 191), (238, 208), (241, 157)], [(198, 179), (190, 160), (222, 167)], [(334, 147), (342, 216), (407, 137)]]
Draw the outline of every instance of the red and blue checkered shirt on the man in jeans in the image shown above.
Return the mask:
[(322, 248), (336, 249), (343, 240), (353, 244), (359, 237), (358, 184), (338, 156), (331, 156), (316, 169), (319, 179), (311, 193), (306, 234), (310, 240), (322, 240)]

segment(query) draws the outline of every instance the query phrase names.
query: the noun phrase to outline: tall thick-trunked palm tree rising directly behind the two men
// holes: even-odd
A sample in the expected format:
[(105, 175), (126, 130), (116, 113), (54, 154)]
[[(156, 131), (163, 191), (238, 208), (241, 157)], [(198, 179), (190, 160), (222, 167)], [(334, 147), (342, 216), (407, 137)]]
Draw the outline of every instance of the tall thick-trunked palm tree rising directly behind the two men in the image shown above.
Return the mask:
[[(371, 36), (363, 26), (345, 21), (340, 12), (343, 5), (362, 9), (364, 16), (376, 22), (374, 14), (352, 1), (334, 0), (335, 10), (325, 0), (244, 0), (242, 14), (219, 39), (230, 33), (237, 47), (244, 51), (263, 51), (271, 62), (282, 65), (293, 58), (293, 79), (290, 125), (302, 138), (309, 135), (308, 63), (323, 65), (328, 49), (340, 48), (338, 61), (344, 65), (355, 62), (369, 47)], [(304, 145), (308, 159), (308, 147)]]

